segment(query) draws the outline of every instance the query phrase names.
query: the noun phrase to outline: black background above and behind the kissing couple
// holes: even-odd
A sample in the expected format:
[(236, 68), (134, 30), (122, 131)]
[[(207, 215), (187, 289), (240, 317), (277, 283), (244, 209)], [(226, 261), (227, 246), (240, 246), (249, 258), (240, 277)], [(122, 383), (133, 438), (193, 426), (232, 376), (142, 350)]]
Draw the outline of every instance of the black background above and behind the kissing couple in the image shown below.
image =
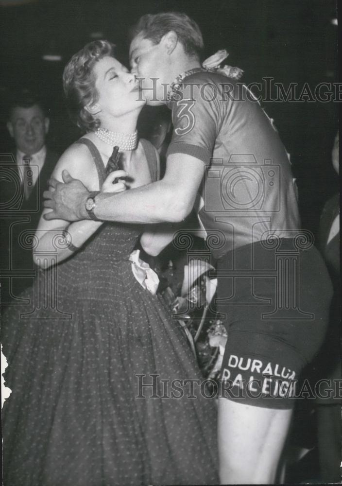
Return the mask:
[[(62, 151), (76, 139), (79, 134), (63, 102), (65, 63), (92, 40), (91, 33), (100, 33), (117, 44), (118, 58), (128, 64), (128, 28), (145, 13), (186, 12), (203, 32), (205, 56), (226, 48), (228, 64), (245, 71), (245, 83), (260, 82), (265, 76), (285, 87), (308, 82), (314, 89), (320, 82), (337, 82), (333, 0), (6, 0), (0, 5), (1, 148), (9, 141), (6, 104), (11, 92), (21, 86), (38, 90), (45, 99), (52, 148)], [(50, 52), (61, 54), (62, 61), (42, 60)], [(316, 232), (324, 202), (338, 190), (331, 165), (338, 104), (265, 102), (263, 106), (291, 154), (303, 226)]]

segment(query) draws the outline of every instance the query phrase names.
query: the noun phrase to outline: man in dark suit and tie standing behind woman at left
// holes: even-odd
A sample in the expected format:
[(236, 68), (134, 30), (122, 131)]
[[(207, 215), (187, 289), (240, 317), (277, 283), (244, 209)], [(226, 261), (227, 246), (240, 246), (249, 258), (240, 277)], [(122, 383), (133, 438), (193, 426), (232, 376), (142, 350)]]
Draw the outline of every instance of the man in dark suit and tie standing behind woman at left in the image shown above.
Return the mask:
[(1, 305), (33, 282), (27, 272), (34, 270), (33, 235), (58, 160), (45, 143), (49, 124), (43, 104), (28, 90), (10, 105), (7, 129), (14, 146), (1, 154)]

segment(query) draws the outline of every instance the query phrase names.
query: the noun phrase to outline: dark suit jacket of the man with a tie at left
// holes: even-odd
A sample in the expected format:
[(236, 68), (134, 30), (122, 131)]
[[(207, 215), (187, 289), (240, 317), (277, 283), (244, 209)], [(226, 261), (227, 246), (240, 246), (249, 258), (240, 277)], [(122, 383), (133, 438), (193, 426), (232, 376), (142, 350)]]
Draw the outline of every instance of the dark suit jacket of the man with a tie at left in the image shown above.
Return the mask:
[[(44, 165), (25, 199), (15, 156), (16, 149), (0, 157), (0, 270), (2, 276), (14, 270), (17, 278), (12, 280), (15, 294), (32, 283), (32, 279), (20, 278), (20, 270), (33, 270), (32, 249), (34, 232), (43, 209), (43, 192), (59, 156), (47, 147)], [(15, 283), (15, 285), (14, 285)], [(8, 299), (9, 278), (1, 278), (2, 302)]]

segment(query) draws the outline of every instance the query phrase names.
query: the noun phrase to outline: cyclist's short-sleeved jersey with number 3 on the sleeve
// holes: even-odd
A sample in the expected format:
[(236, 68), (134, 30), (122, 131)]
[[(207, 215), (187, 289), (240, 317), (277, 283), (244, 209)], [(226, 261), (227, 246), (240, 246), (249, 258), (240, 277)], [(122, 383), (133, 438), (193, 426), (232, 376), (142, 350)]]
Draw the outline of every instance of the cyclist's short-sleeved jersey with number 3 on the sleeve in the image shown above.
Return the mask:
[(213, 255), (273, 233), (292, 238), (300, 220), (289, 156), (252, 93), (198, 68), (173, 86), (168, 106), (174, 131), (167, 156), (181, 153), (204, 162), (196, 206), (207, 234), (220, 238)]

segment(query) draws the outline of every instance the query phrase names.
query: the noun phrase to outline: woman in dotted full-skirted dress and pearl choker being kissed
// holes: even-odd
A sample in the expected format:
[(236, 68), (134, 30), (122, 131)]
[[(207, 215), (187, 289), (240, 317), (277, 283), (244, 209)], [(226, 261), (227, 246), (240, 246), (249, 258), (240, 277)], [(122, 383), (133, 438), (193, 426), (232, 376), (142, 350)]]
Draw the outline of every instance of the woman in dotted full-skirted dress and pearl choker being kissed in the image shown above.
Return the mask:
[[(135, 145), (144, 102), (113, 47), (91, 42), (64, 71), (70, 112), (86, 134), (53, 176), (62, 180), (68, 169), (90, 191), (146, 185), (158, 173), (152, 146)], [(118, 137), (125, 171), (105, 182)], [(5, 486), (218, 483), (215, 404), (199, 387), (196, 398), (182, 387), (199, 383), (199, 371), (177, 322), (148, 279), (133, 273), (144, 274), (131, 261), (141, 232), (134, 222), (41, 217), (40, 275), (21, 295), (28, 303), (2, 320), (12, 390), (3, 409)], [(158, 240), (151, 230), (144, 238)]]

